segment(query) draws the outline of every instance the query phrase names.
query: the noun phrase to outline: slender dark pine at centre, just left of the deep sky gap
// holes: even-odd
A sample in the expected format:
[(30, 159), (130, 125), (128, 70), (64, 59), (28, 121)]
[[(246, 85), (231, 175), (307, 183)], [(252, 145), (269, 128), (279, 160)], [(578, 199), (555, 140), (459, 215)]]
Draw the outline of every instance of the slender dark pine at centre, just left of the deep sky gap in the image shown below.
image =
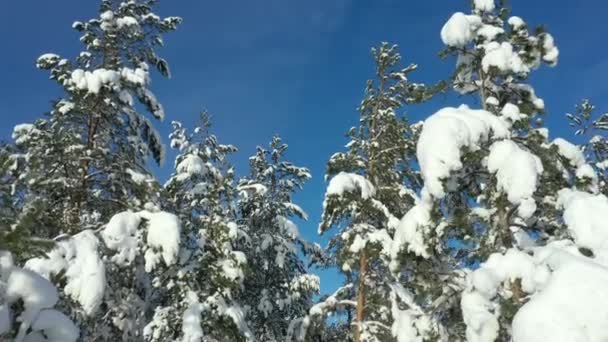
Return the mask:
[(249, 176), (239, 182), (239, 215), (249, 240), (241, 302), (256, 340), (284, 341), (292, 320), (306, 315), (319, 291), (319, 278), (308, 273), (303, 256), (319, 248), (306, 242), (293, 222), (307, 219), (293, 194), (311, 178), (308, 169), (285, 161), (287, 145), (278, 136), (269, 149), (249, 158)]

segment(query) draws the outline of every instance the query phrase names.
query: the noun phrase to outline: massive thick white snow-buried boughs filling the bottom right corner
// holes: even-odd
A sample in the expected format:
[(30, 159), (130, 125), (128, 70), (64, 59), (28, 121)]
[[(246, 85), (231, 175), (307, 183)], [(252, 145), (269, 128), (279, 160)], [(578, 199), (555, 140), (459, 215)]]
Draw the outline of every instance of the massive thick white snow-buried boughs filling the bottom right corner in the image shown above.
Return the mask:
[(521, 305), (512, 323), (515, 342), (599, 342), (608, 336), (603, 324), (608, 317), (608, 199), (564, 189), (558, 203), (572, 240), (492, 254), (468, 277), (462, 310), (469, 341), (502, 336), (505, 310), (494, 301), (497, 296)]

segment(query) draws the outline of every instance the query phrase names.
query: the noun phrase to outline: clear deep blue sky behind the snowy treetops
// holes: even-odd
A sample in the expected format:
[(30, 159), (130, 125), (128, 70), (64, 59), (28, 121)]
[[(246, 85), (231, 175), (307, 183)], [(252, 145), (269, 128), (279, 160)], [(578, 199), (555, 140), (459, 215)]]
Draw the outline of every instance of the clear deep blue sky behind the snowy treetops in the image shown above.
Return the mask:
[[(416, 62), (417, 82), (448, 77), (452, 60), (440, 60), (439, 31), (466, 0), (161, 0), (156, 12), (184, 18), (165, 37), (161, 54), (173, 77), (156, 77), (153, 89), (167, 120), (158, 128), (167, 136), (172, 120), (195, 123), (197, 113), (214, 114), (221, 141), (240, 148), (233, 162), (246, 172), (247, 156), (275, 133), (290, 145), (289, 158), (311, 169), (313, 179), (297, 202), (309, 212), (303, 235), (316, 236), (324, 193), (323, 174), (331, 154), (342, 150), (344, 133), (356, 123), (355, 108), (365, 80), (372, 75), (369, 50), (381, 41), (401, 47), (404, 63)], [(569, 135), (564, 113), (581, 98), (608, 110), (608, 44), (605, 0), (511, 0), (513, 14), (529, 25), (544, 24), (560, 48), (556, 68), (536, 72), (532, 84), (547, 104), (552, 135)], [(0, 9), (0, 139), (12, 127), (40, 117), (60, 93), (48, 74), (34, 67), (46, 52), (73, 57), (81, 48), (71, 29), (75, 20), (96, 15), (97, 1), (6, 1)], [(407, 108), (418, 121), (444, 106), (468, 101), (440, 96)], [(164, 179), (172, 167), (154, 168)], [(338, 284), (325, 273), (324, 290)]]

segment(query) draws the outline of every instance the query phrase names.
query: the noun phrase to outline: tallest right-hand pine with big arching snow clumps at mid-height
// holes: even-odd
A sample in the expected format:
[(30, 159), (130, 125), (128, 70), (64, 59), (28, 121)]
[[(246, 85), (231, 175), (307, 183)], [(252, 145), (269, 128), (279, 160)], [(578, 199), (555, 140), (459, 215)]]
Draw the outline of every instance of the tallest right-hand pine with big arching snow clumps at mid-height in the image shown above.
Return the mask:
[[(477, 97), (486, 110), (471, 114), (468, 107), (444, 109), (425, 122), (418, 143), (418, 160), (425, 178), (423, 197), (437, 203), (427, 205), (425, 211), (431, 212), (431, 207), (442, 211), (442, 219), (435, 221), (448, 247), (438, 250), (442, 263), (475, 264), (516, 246), (519, 240), (527, 241), (532, 230), (541, 234), (555, 229), (554, 208), (538, 199), (565, 183), (553, 166), (558, 156), (548, 148), (548, 134), (542, 128), (544, 102), (525, 81), (541, 64), (555, 65), (558, 49), (549, 33), (541, 28), (530, 32), (521, 18), (509, 15), (502, 1), (475, 0), (471, 14), (455, 13), (441, 30), (447, 46), (443, 55), (457, 56), (454, 89)], [(452, 133), (442, 131), (449, 130), (449, 125), (464, 127)], [(457, 136), (462, 132), (468, 132), (467, 138)], [(442, 146), (438, 136), (453, 150), (445, 148), (441, 154), (435, 153), (437, 146)], [(509, 165), (517, 166), (509, 169)], [(537, 207), (538, 212), (547, 215), (534, 215)], [(411, 216), (414, 218), (413, 213)], [(414, 221), (412, 227), (425, 225), (424, 220)], [(442, 289), (434, 306), (452, 306), (454, 288), (463, 285), (461, 276), (456, 272), (450, 277), (450, 285)], [(505, 320), (509, 320), (504, 311)], [(461, 322), (458, 311), (449, 312), (454, 317), (446, 321)], [(450, 338), (462, 335), (462, 330), (458, 324), (448, 323)]]

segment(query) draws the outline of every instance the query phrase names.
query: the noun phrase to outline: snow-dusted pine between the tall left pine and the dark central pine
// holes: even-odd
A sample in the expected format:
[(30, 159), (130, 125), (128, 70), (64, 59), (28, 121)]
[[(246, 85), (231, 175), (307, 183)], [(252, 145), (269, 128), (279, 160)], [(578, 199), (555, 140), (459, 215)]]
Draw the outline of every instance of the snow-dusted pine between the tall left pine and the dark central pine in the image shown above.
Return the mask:
[(165, 185), (167, 206), (183, 223), (184, 247), (176, 268), (167, 273), (171, 286), (151, 325), (150, 341), (252, 340), (245, 313), (237, 302), (246, 265), (235, 247), (244, 238), (236, 223), (234, 169), (236, 151), (209, 132), (210, 117), (189, 133), (173, 122), (171, 146), (179, 150), (175, 172)]

